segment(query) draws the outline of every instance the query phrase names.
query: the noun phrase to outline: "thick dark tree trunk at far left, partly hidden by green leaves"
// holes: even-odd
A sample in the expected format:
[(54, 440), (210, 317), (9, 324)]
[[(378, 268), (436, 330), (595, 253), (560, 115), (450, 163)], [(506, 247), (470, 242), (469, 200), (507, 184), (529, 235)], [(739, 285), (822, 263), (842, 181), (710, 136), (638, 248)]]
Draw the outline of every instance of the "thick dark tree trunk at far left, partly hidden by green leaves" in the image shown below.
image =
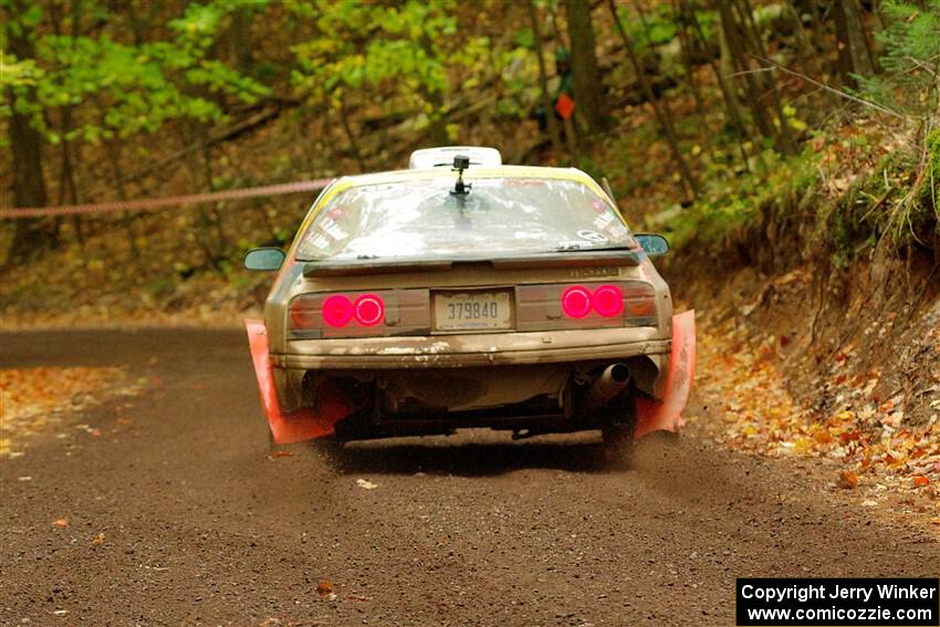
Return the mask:
[[(22, 2), (13, 4), (13, 15), (21, 14)], [(17, 59), (35, 59), (35, 46), (24, 29), (8, 30), (8, 46)], [(32, 100), (33, 94), (29, 94)], [(14, 102), (12, 92), (10, 102)], [(42, 135), (30, 124), (29, 115), (18, 113), (15, 106), (10, 116), (10, 150), (13, 161), (13, 205), (15, 207), (45, 207), (45, 177), (42, 170)], [(20, 263), (45, 245), (45, 233), (41, 220), (15, 220), (13, 240), (7, 257), (8, 263)]]

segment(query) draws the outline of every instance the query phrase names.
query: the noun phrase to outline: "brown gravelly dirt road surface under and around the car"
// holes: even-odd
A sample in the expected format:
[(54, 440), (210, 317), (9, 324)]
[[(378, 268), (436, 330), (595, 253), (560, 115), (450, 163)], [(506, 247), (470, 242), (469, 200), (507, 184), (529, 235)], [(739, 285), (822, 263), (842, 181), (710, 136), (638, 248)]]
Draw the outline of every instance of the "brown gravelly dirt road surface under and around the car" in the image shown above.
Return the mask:
[(933, 537), (811, 461), (694, 429), (630, 469), (592, 435), (269, 458), (241, 333), (0, 335), (0, 367), (30, 365), (126, 365), (149, 385), (129, 425), (106, 404), (82, 418), (102, 437), (50, 435), (0, 464), (3, 626), (733, 625), (737, 576), (940, 573)]

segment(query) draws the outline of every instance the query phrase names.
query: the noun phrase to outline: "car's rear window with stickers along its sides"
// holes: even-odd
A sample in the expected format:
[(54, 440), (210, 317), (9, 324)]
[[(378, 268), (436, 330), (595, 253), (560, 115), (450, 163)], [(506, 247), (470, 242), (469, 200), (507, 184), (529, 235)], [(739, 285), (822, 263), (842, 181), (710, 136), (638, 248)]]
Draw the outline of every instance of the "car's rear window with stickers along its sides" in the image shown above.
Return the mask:
[(455, 179), (354, 187), (317, 213), (297, 259), (492, 259), (565, 250), (634, 248), (619, 213), (573, 180), (485, 178), (451, 194)]

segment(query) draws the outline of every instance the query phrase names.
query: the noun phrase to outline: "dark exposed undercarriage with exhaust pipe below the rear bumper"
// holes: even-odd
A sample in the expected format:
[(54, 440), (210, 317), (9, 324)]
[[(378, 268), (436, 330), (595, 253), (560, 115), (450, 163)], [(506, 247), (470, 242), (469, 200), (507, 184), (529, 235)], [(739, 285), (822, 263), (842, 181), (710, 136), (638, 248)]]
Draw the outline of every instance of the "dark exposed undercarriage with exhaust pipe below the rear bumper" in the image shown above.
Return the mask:
[(657, 368), (623, 362), (400, 370), (307, 370), (302, 404), (314, 414), (337, 403), (348, 414), (336, 439), (511, 430), (515, 437), (602, 429), (635, 416)]

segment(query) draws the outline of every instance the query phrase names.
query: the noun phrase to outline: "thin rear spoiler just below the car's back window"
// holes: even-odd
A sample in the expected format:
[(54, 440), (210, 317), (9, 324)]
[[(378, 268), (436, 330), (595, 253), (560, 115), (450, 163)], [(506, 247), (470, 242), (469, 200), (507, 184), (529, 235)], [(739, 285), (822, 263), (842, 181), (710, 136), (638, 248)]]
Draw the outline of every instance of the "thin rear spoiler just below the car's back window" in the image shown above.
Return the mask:
[(531, 268), (574, 268), (598, 265), (639, 265), (639, 250), (599, 250), (595, 252), (557, 252), (550, 254), (505, 257), (502, 259), (467, 260), (403, 260), (374, 263), (369, 260), (353, 262), (309, 261), (304, 276), (351, 276), (358, 274), (395, 274), (405, 272), (445, 272), (455, 267), (489, 265), (495, 270), (526, 270)]

